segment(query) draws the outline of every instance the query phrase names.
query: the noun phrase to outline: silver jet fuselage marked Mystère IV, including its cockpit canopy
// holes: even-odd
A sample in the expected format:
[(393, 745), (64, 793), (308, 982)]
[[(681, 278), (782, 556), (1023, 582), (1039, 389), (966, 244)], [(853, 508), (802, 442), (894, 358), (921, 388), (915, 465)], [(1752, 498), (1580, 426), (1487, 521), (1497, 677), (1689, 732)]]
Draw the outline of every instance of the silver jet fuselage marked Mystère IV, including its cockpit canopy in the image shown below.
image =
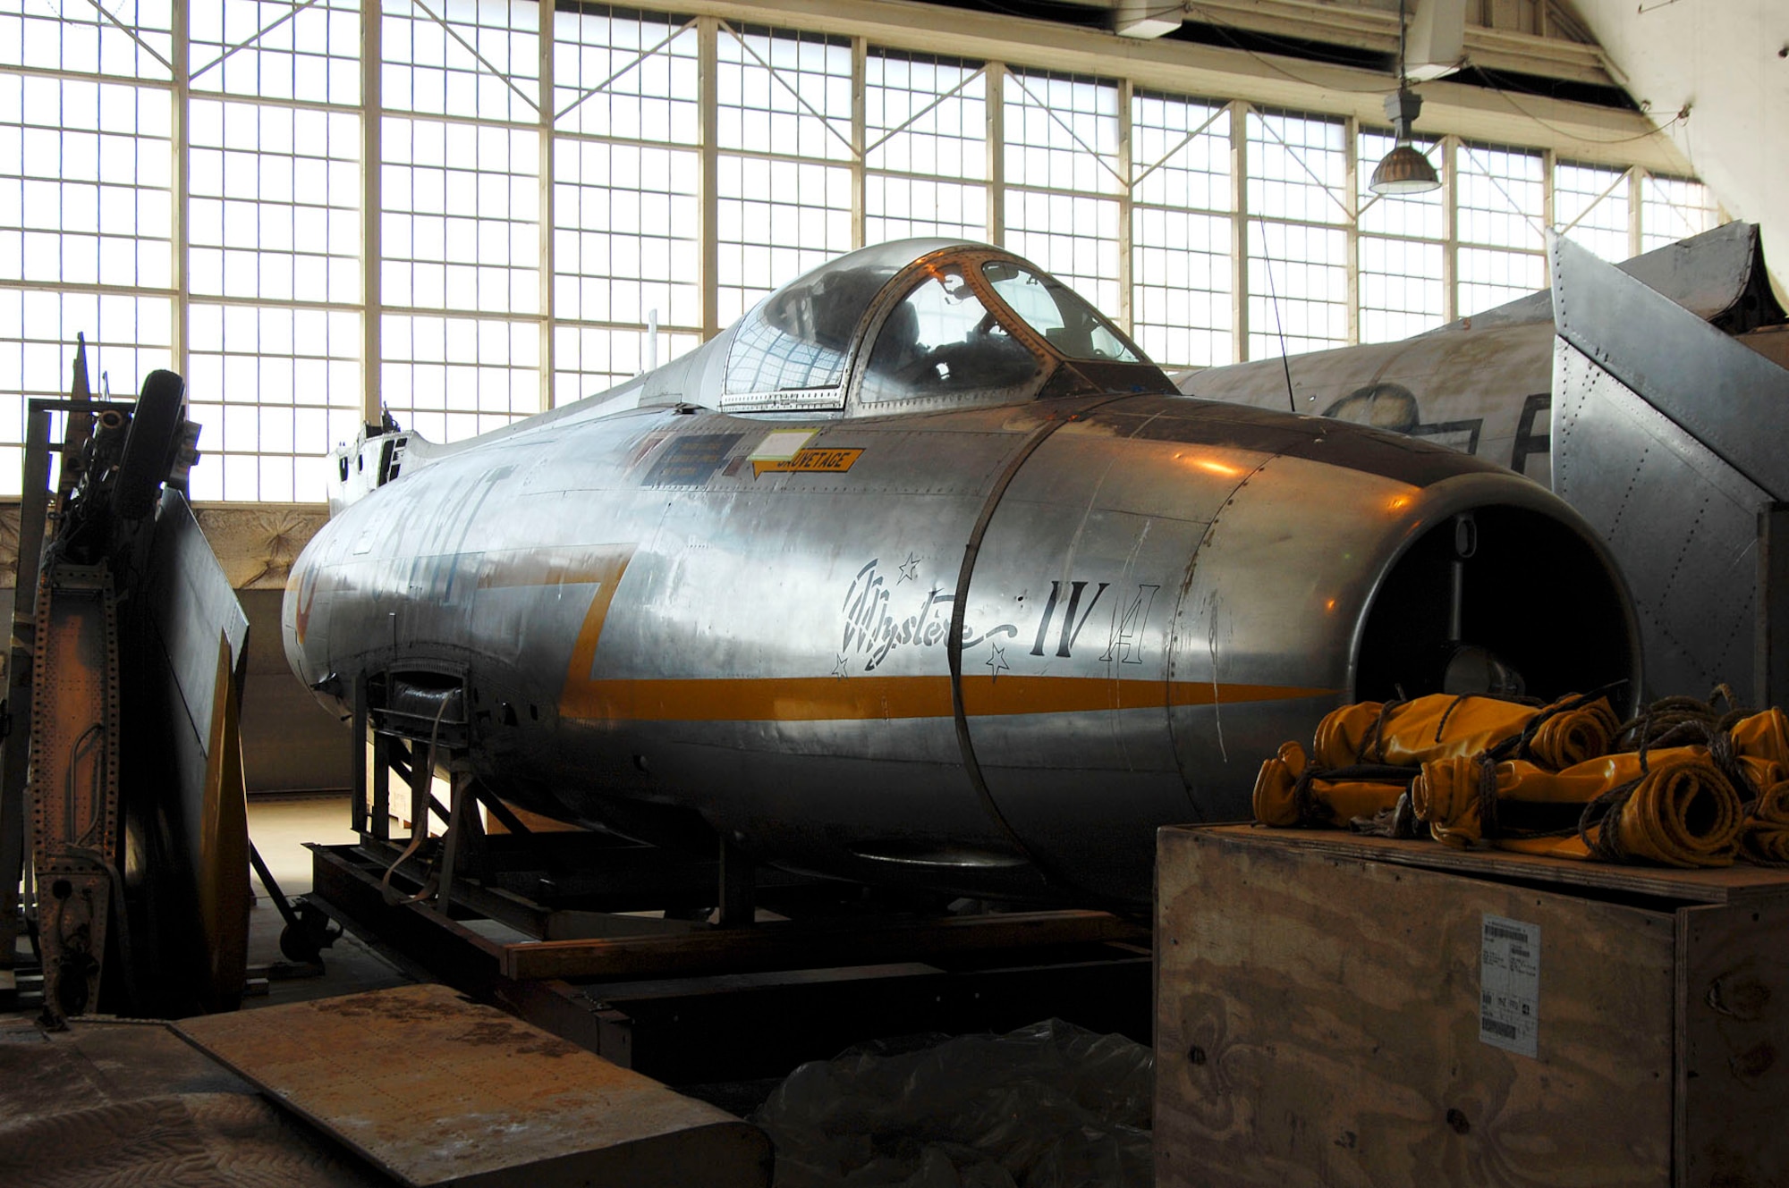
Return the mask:
[[(1066, 297), (1039, 327), (1043, 290), (989, 281), (1029, 270), (1004, 252), (869, 252), (855, 290), (803, 277), (624, 399), (343, 451), (288, 585), (293, 671), (338, 707), (367, 682), (420, 739), (401, 703), (435, 705), (465, 766), (553, 816), (1129, 902), (1156, 827), (1247, 816), (1261, 759), (1342, 701), (1637, 676), (1619, 574), (1535, 483), (1177, 395)], [(979, 329), (939, 345), (971, 301)], [(887, 345), (916, 304), (918, 342)], [(751, 342), (785, 378), (794, 345), (837, 345), (798, 376), (835, 392), (766, 388)]]

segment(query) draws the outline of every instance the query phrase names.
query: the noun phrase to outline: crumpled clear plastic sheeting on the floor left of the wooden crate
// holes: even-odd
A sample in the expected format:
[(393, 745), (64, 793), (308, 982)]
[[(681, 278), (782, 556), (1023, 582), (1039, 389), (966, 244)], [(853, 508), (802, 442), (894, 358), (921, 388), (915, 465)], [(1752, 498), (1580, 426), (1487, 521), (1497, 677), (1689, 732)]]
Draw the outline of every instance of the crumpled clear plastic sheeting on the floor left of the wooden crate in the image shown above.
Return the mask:
[(776, 1188), (1149, 1188), (1154, 1054), (1061, 1020), (796, 1068), (751, 1116)]

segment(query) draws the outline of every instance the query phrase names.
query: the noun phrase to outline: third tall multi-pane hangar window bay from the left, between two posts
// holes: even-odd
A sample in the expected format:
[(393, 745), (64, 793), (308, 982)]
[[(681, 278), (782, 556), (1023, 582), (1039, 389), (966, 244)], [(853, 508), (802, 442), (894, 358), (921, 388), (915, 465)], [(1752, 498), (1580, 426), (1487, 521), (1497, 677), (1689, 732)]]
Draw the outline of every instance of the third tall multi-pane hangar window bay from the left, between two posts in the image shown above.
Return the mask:
[(460, 440), (540, 408), (540, 11), (385, 0), (379, 392)]

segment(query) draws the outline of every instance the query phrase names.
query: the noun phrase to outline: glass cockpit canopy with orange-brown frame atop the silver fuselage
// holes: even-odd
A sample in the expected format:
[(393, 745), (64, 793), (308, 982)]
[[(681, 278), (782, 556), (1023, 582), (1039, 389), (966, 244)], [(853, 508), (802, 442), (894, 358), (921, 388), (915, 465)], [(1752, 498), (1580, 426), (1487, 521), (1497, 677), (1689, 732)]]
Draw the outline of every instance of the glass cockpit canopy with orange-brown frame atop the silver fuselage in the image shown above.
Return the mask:
[[(875, 415), (1175, 390), (1066, 284), (959, 240), (841, 256), (760, 301), (712, 347), (725, 351), (717, 404), (739, 413)], [(716, 361), (699, 370), (712, 376)]]

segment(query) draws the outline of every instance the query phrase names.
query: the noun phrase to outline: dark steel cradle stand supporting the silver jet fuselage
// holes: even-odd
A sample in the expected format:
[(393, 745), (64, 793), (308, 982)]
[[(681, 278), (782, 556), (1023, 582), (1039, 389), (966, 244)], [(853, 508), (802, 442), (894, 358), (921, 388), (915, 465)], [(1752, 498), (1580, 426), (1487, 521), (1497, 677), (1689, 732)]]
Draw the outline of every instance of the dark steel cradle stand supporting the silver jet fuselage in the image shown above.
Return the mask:
[[(442, 803), (435, 769), (454, 769), (460, 726), (442, 696), (424, 721), (426, 705), (354, 689), (360, 841), (311, 846), (299, 911), (313, 929), (327, 914), (413, 973), (669, 1084), (776, 1077), (866, 1040), (1050, 1016), (1149, 1041), (1145, 921), (952, 914), (943, 898), (755, 868), (725, 841), (699, 859), (547, 832), (463, 773)], [(394, 780), (411, 814), (395, 810)], [(406, 816), (408, 839), (394, 837)]]

